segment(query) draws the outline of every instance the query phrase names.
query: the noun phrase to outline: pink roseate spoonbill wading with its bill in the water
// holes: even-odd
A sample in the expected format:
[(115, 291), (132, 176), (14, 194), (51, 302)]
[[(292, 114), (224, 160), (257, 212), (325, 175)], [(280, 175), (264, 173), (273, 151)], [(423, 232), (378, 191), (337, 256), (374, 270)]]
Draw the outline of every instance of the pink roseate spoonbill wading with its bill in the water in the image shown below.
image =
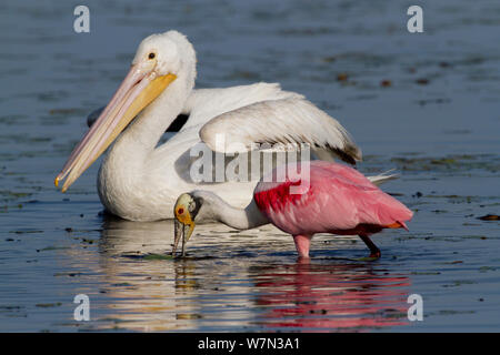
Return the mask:
[[(192, 191), (180, 195), (174, 206), (176, 237), (172, 254), (176, 253), (181, 236), (184, 254), (184, 244), (191, 236), (196, 222), (207, 220), (219, 221), (239, 230), (272, 223), (293, 236), (297, 252), (302, 257), (309, 257), (310, 242), (316, 233), (331, 233), (359, 235), (370, 248), (370, 257), (378, 258), (380, 250), (369, 236), (383, 229), (407, 229), (404, 222), (411, 220), (413, 213), (357, 170), (323, 161), (299, 164), (300, 169), (309, 168), (309, 175), (300, 179), (287, 176), (283, 181), (277, 181), (276, 176), (284, 176), (278, 172), (279, 169), (297, 169), (290, 170), (289, 165), (278, 168), (258, 183), (253, 200), (244, 210), (230, 206), (208, 191)], [(379, 181), (383, 179), (380, 176)], [(306, 186), (301, 194), (292, 191), (300, 186)], [(186, 232), (186, 229), (189, 230)]]

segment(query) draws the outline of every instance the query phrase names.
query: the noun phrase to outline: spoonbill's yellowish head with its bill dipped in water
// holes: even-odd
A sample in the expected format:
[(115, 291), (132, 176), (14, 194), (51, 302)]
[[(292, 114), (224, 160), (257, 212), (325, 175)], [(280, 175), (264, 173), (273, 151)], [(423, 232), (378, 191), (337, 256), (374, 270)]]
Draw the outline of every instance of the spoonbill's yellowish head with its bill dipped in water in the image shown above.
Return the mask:
[[(173, 239), (172, 255), (176, 254), (179, 241), (182, 237), (182, 256), (186, 255), (186, 243), (191, 237), (194, 230), (194, 219), (197, 217), (203, 204), (203, 199), (194, 196), (190, 193), (183, 193), (177, 199), (173, 207), (173, 215), (176, 216), (174, 226), (176, 234)], [(188, 231), (186, 231), (188, 230)]]

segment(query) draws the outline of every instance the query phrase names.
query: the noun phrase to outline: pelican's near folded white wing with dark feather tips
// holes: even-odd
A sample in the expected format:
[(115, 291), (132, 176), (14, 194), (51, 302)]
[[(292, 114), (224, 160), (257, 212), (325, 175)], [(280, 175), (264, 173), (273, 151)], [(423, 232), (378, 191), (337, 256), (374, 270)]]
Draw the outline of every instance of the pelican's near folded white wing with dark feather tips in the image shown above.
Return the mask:
[(256, 102), (222, 113), (201, 128), (200, 138), (216, 152), (252, 150), (256, 143), (307, 143), (320, 156), (328, 153), (351, 164), (361, 160), (361, 150), (347, 130), (302, 97)]

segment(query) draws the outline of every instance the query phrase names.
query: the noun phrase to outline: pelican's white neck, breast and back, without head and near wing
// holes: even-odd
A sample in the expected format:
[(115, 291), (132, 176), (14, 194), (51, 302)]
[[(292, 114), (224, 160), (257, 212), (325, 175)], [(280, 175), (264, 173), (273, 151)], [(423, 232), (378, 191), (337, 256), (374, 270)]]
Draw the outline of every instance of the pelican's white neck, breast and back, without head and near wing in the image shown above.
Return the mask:
[[(174, 83), (167, 90), (171, 90)], [(196, 90), (179, 111), (190, 112), (181, 131), (156, 146), (173, 121), (157, 103), (128, 128), (111, 146), (98, 175), (98, 192), (106, 209), (126, 220), (157, 221), (173, 217), (173, 204), (182, 191), (203, 189), (217, 192), (238, 207), (252, 199), (258, 182), (193, 183), (190, 178), (190, 149), (200, 143), (200, 129), (227, 111), (262, 100), (298, 97), (278, 84), (257, 83), (228, 89)], [(174, 100), (174, 99), (172, 99)], [(166, 103), (167, 108), (172, 108)], [(153, 108), (151, 110), (151, 106)], [(169, 110), (170, 111), (170, 110)]]

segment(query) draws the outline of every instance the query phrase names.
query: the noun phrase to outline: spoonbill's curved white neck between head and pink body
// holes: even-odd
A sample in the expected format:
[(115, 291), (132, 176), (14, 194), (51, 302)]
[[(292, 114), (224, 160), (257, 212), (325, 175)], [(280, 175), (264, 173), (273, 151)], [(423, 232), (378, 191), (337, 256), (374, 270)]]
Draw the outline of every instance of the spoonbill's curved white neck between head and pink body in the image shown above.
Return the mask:
[(196, 195), (203, 199), (197, 219), (216, 220), (237, 230), (250, 230), (269, 223), (253, 200), (246, 209), (237, 209), (213, 192), (197, 191)]

